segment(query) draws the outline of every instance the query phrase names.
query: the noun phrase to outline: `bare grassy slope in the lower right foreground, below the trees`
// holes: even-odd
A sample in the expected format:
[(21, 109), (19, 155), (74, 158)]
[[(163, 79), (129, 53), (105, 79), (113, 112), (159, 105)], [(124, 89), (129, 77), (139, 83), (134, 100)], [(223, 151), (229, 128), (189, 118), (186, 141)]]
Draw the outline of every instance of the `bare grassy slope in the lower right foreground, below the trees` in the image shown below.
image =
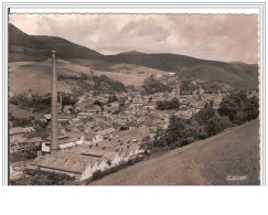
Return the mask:
[[(246, 175), (246, 181), (227, 181)], [(259, 184), (258, 120), (135, 164), (92, 184)]]

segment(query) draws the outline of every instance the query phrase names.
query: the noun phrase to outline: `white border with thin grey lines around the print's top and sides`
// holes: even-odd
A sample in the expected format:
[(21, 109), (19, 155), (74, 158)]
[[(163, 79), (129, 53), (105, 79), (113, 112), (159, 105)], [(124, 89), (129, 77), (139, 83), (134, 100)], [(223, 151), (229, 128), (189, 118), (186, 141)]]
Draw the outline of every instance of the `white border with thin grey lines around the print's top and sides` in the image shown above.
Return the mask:
[(260, 185), (266, 185), (266, 2), (180, 2), (180, 3), (71, 3), (71, 2), (2, 2), (2, 143), (0, 184), (9, 185), (9, 71), (8, 71), (8, 21), (9, 13), (221, 13), (259, 15), (259, 92), (260, 92)]

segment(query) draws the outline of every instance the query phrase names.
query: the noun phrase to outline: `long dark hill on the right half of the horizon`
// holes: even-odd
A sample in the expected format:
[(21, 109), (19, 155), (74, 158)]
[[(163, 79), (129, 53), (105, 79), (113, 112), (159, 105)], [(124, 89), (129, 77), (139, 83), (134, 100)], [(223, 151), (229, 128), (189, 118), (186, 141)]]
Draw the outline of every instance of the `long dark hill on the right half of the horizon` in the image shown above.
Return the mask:
[(178, 54), (126, 54), (101, 56), (103, 61), (142, 65), (150, 68), (176, 72), (181, 77), (199, 78), (208, 82), (224, 82), (233, 87), (256, 88), (258, 65), (199, 60)]

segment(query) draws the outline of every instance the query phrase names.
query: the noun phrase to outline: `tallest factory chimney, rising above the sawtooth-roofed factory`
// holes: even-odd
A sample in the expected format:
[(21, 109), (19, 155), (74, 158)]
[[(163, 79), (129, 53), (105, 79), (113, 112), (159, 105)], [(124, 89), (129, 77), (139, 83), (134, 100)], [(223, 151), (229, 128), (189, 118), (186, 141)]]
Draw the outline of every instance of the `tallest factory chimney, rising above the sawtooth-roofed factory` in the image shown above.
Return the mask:
[(58, 150), (56, 51), (52, 51), (51, 152)]

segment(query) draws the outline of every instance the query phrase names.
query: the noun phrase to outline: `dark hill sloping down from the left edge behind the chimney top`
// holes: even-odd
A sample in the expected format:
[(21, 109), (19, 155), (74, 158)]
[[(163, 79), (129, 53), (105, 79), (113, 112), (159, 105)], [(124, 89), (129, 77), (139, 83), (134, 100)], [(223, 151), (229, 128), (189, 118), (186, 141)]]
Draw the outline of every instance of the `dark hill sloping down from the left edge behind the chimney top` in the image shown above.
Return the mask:
[(85, 58), (100, 55), (96, 51), (62, 37), (28, 35), (13, 24), (9, 24), (9, 45), (10, 62), (44, 61), (51, 56), (51, 50), (56, 50), (60, 58)]

